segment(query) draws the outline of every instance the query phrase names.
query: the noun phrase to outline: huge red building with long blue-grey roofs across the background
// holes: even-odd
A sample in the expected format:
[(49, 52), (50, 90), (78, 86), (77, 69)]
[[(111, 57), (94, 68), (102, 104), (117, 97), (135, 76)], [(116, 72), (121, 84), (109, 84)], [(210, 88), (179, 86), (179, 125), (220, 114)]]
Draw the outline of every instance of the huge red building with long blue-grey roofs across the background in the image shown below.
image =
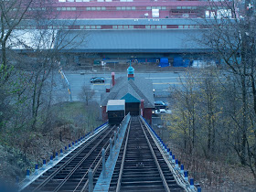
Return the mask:
[(204, 59), (214, 50), (193, 37), (207, 32), (206, 18), (232, 17), (229, 2), (223, 5), (219, 1), (48, 1), (29, 8), (28, 13), (47, 13), (50, 19), (26, 20), (16, 28), (57, 31), (55, 45), (60, 45), (64, 53), (60, 59), (64, 65), (101, 60), (156, 62), (164, 57), (170, 63), (177, 58)]

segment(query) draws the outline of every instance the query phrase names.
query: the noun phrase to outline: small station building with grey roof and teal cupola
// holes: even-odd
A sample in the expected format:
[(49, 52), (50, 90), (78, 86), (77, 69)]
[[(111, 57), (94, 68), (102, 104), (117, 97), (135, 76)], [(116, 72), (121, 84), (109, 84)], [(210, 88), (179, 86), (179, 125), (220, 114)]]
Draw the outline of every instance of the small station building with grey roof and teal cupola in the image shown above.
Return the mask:
[(124, 100), (125, 114), (142, 115), (148, 123), (152, 123), (152, 109), (155, 108), (155, 98), (152, 80), (134, 76), (130, 65), (127, 77), (115, 79), (112, 72), (112, 87), (101, 94), (101, 113), (103, 121), (108, 120), (107, 103), (109, 100)]

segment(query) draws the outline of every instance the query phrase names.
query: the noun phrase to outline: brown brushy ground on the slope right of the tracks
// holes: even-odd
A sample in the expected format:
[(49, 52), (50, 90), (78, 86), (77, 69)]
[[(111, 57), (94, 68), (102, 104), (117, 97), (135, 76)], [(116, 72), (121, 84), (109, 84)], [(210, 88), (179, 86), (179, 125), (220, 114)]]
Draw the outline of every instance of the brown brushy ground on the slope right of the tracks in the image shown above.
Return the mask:
[(174, 144), (168, 144), (173, 154), (176, 155), (188, 176), (195, 179), (202, 191), (213, 192), (255, 192), (256, 179), (251, 174), (251, 169), (243, 165), (230, 165), (221, 161), (209, 161), (200, 156), (191, 156), (182, 153)]

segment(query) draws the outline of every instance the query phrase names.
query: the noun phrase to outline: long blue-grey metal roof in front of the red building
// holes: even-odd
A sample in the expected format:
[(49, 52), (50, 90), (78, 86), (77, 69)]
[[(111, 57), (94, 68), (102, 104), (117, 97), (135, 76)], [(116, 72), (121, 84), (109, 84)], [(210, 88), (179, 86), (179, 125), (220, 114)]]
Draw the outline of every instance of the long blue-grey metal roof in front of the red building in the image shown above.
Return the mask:
[[(195, 40), (207, 32), (207, 29), (70, 30), (59, 31), (56, 45), (69, 52), (208, 52), (212, 49)], [(67, 45), (62, 46), (63, 43)]]

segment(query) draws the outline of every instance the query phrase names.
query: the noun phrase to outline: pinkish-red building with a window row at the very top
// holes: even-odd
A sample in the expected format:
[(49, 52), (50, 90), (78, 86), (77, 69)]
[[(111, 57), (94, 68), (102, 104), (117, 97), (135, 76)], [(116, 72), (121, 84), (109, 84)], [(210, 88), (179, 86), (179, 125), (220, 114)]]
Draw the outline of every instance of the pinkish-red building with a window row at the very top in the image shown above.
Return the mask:
[[(59, 19), (93, 18), (202, 18), (223, 15), (229, 1), (176, 0), (48, 0), (30, 8), (50, 11)], [(228, 3), (227, 3), (228, 2)], [(214, 8), (212, 8), (214, 6)], [(216, 8), (219, 6), (219, 8)], [(56, 13), (55, 15), (53, 13)]]

